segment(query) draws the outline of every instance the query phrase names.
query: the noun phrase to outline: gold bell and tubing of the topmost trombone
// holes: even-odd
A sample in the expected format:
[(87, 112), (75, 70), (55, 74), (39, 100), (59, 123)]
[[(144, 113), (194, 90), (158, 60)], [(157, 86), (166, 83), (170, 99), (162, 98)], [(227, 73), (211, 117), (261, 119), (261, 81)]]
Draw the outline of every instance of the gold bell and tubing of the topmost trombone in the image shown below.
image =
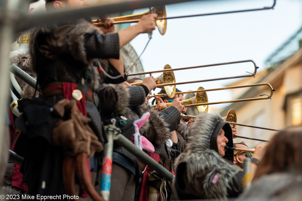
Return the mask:
[[(156, 13), (157, 14), (157, 20), (156, 20), (156, 26), (158, 27), (159, 33), (164, 35), (167, 29), (167, 20), (164, 19), (167, 17), (166, 14), (166, 8), (165, 6), (155, 6), (151, 10), (143, 13), (138, 13), (138, 14), (132, 14), (132, 15), (125, 15), (121, 17), (111, 17), (111, 19), (114, 20), (112, 22), (113, 24), (123, 24), (123, 23), (133, 23), (133, 22), (138, 22), (142, 17), (151, 14), (151, 13)], [(92, 20), (92, 24), (102, 27), (104, 26), (104, 23), (101, 22), (101, 20)]]

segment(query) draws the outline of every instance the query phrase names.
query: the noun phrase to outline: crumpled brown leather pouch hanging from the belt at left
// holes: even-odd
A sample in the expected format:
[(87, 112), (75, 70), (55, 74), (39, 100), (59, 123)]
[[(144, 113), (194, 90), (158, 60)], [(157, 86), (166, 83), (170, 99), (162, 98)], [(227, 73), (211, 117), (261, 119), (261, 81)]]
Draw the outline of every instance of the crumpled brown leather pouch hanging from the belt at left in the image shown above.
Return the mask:
[(91, 119), (80, 113), (75, 101), (60, 100), (53, 109), (57, 116), (69, 117), (56, 123), (52, 134), (53, 145), (64, 147), (65, 153), (72, 156), (85, 152), (90, 157), (95, 152), (103, 151), (103, 145), (88, 125)]

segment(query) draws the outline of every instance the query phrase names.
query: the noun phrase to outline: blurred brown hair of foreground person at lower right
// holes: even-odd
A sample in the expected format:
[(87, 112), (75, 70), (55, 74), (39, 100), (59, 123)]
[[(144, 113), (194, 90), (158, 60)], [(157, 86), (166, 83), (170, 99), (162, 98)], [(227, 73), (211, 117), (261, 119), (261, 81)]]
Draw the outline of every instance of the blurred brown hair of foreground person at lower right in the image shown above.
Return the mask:
[(263, 174), (294, 171), (302, 173), (302, 131), (281, 131), (271, 139), (254, 179)]

